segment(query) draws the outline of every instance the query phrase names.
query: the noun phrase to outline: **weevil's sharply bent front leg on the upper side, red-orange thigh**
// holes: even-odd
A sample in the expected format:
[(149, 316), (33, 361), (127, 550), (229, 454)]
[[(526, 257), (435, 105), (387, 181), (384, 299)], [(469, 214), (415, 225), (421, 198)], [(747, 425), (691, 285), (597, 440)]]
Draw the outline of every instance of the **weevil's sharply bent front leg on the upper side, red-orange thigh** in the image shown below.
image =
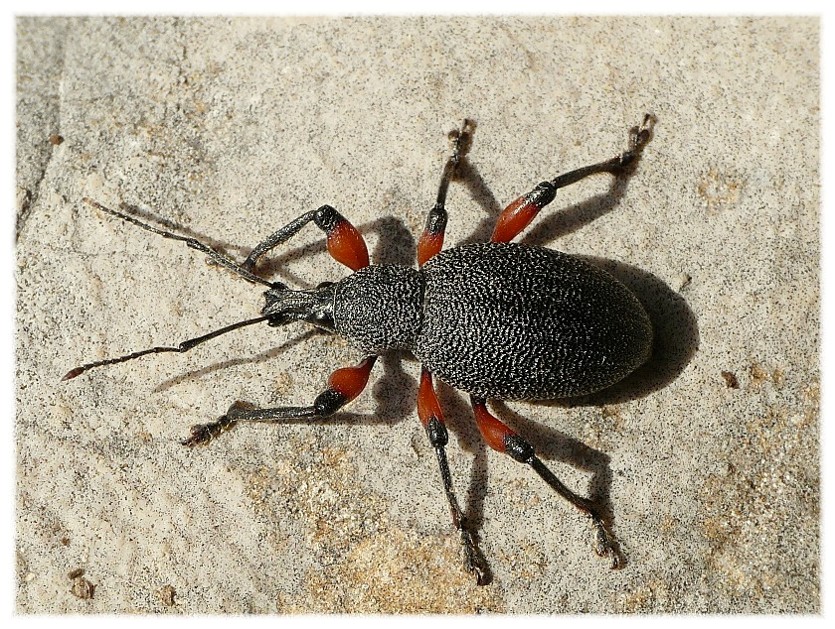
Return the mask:
[(325, 232), (328, 239), (328, 251), (334, 260), (354, 271), (368, 266), (368, 247), (362, 235), (348, 219), (330, 205), (323, 205), (317, 210), (302, 214), (268, 236), (252, 250), (241, 266), (251, 271), (258, 258), (274, 247), (288, 241), (310, 222), (315, 223), (319, 229)]

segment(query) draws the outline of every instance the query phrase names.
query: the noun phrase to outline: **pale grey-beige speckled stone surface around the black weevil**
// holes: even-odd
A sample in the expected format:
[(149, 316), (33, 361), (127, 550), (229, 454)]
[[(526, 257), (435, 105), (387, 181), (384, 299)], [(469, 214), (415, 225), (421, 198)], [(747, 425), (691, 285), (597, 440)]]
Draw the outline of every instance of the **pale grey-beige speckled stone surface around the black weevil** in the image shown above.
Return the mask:
[[(19, 612), (800, 612), (820, 609), (819, 21), (813, 18), (20, 18)], [(542, 179), (608, 158), (520, 238), (587, 256), (657, 327), (650, 364), (569, 404), (496, 404), (598, 497), (627, 565), (531, 470), (487, 451), (441, 387), (492, 583), (461, 567), (419, 365), (378, 364), (346, 412), (189, 427), (235, 400), (303, 404), (359, 356), (246, 328), (261, 289), (110, 218), (138, 206), (242, 259), (331, 203), (376, 262), (411, 264), (448, 151), (478, 123), (447, 243), (485, 239)], [(346, 272), (313, 228), (274, 277)], [(83, 574), (81, 574), (83, 571)], [(90, 595), (92, 594), (92, 597)]]

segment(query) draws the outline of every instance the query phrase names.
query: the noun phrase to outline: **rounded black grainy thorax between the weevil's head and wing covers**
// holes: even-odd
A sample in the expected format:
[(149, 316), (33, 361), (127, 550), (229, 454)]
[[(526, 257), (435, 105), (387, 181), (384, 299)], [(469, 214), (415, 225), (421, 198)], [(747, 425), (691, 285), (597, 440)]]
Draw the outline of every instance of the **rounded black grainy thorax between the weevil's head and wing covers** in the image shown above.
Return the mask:
[(363, 352), (414, 347), (423, 323), (423, 277), (405, 266), (368, 266), (334, 287), (336, 331)]

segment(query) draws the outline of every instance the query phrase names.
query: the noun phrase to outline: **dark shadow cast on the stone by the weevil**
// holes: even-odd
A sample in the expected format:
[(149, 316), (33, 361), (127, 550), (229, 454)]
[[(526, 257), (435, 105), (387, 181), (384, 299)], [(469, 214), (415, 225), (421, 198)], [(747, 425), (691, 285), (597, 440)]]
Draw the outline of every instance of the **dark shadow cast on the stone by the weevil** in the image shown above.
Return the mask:
[[(538, 225), (522, 239), (522, 242), (535, 246), (552, 245), (560, 236), (577, 231), (612, 211), (620, 204), (631, 174), (631, 172), (625, 172), (613, 178), (608, 190), (604, 193), (597, 194), (543, 217)], [(457, 244), (489, 240), (490, 231), (495, 224), (496, 217), (502, 211), (502, 206), (497, 202), (478, 170), (466, 157), (462, 159), (455, 179), (466, 187), (469, 195), (481, 206), (486, 215), (473, 228), (471, 234)], [(134, 209), (136, 210), (136, 208)], [(140, 211), (137, 213), (150, 216), (147, 212)], [(153, 218), (166, 226), (170, 224), (158, 217)], [(177, 229), (181, 233), (194, 235), (226, 251), (236, 251), (241, 255), (245, 255), (247, 252), (242, 247), (205, 238), (189, 229), (178, 226)], [(415, 239), (402, 220), (383, 216), (360, 225), (359, 229), (362, 233), (377, 233), (380, 236), (372, 256), (375, 263), (412, 266)], [(309, 284), (309, 281), (295, 276), (292, 271), (288, 270), (288, 263), (325, 251), (326, 246), (323, 241), (303, 247), (286, 249), (271, 259), (265, 260), (260, 267), (260, 272), (267, 277), (278, 276), (296, 285), (305, 286)], [(647, 311), (655, 330), (653, 353), (644, 366), (604, 391), (581, 398), (529, 403), (557, 407), (601, 406), (644, 397), (672, 382), (690, 362), (698, 348), (698, 327), (695, 317), (684, 299), (663, 281), (636, 267), (606, 258), (578, 257), (608, 271), (636, 295)], [(182, 374), (161, 383), (157, 390), (169, 388), (190, 378), (203, 377), (230, 366), (270, 361), (289, 347), (303, 343), (318, 333), (320, 332), (308, 331), (281, 346), (256, 356), (226, 360)], [(403, 369), (403, 359), (406, 356), (407, 354), (402, 352), (393, 352), (382, 356), (382, 375), (376, 378), (371, 391), (376, 404), (376, 411), (373, 415), (338, 412), (327, 420), (328, 423), (393, 424), (407, 418), (411, 420), (414, 415), (412, 400), (417, 396), (417, 386), (413, 378)], [(390, 392), (395, 390), (400, 393), (391, 395)], [(443, 406), (447, 410), (450, 429), (456, 435), (462, 449), (473, 455), (464, 513), (473, 530), (478, 531), (483, 523), (483, 507), (488, 476), (486, 446), (478, 431), (475, 430), (474, 422), (466, 419), (471, 416), (471, 409), (462, 399), (460, 393), (440, 383), (439, 393)], [(517, 413), (503, 402), (494, 401), (493, 406), (500, 415), (509, 420), (510, 424), (516, 426), (521, 434), (527, 435), (545, 458), (556, 459), (578, 469), (591, 472), (589, 488), (592, 500), (601, 507), (603, 517), (607, 523), (613, 525), (614, 515), (609, 499), (612, 474), (608, 455), (558, 430), (525, 419), (523, 414)], [(309, 424), (310, 420), (290, 420), (286, 423)], [(621, 560), (625, 561), (625, 558), (622, 557)]]

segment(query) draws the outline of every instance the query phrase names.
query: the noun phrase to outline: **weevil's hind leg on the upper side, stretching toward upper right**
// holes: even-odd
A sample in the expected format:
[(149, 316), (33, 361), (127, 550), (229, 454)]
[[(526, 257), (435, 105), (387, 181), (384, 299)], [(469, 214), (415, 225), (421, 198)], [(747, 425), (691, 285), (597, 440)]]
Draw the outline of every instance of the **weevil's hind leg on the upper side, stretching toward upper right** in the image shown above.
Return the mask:
[(513, 201), (499, 215), (493, 236), (490, 238), (491, 242), (513, 240), (530, 224), (542, 208), (554, 200), (558, 189), (597, 173), (619, 175), (634, 165), (644, 146), (652, 138), (654, 122), (655, 118), (652, 115), (645, 114), (641, 125), (629, 130), (629, 147), (620, 155), (599, 164), (572, 170), (551, 181), (543, 181), (536, 188)]

